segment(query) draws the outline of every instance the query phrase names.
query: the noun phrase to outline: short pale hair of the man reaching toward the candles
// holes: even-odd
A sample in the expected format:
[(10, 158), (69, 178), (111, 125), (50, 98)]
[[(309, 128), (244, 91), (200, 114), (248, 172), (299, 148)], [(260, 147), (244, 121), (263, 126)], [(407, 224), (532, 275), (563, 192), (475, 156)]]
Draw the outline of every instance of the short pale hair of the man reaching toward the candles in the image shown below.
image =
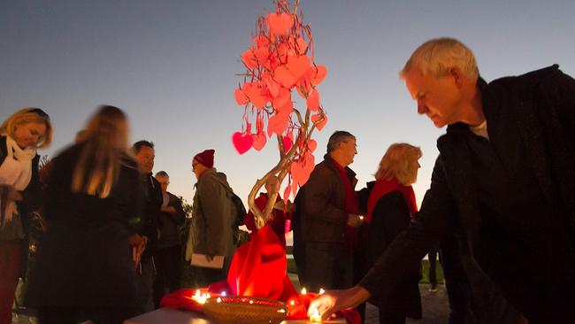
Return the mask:
[(399, 76), (405, 79), (405, 74), (417, 68), (424, 75), (438, 78), (449, 73), (453, 67), (459, 68), (469, 78), (477, 79), (479, 76), (472, 50), (454, 38), (437, 38), (424, 42), (414, 50)]

